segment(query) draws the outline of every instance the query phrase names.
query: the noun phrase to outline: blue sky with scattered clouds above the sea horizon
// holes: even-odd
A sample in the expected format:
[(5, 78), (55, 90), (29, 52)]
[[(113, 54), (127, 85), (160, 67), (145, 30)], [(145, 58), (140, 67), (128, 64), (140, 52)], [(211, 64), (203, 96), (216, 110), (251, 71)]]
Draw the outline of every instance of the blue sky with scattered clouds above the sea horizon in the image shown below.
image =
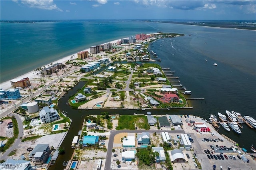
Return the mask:
[(256, 0), (1, 0), (1, 20), (256, 20)]

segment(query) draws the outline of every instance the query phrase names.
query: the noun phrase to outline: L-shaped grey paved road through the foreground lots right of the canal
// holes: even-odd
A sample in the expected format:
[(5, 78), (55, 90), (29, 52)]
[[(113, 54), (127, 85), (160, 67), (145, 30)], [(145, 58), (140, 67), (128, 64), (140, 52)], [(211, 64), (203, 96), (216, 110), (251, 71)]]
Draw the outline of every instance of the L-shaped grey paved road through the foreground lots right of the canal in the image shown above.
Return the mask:
[(185, 133), (184, 130), (111, 130), (110, 136), (109, 136), (109, 141), (108, 141), (108, 151), (107, 151), (106, 163), (105, 163), (104, 170), (112, 170), (110, 167), (111, 167), (112, 148), (113, 148), (113, 144), (114, 144), (114, 136), (116, 136), (116, 134), (122, 133), (122, 132), (127, 132), (127, 133), (141, 133), (141, 132)]

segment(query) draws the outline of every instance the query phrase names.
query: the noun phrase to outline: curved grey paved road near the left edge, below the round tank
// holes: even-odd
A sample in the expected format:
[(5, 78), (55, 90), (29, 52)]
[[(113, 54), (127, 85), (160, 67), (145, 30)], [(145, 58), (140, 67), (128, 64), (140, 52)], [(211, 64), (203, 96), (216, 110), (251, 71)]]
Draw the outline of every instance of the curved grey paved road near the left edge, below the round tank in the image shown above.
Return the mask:
[(14, 144), (13, 144), (9, 149), (7, 149), (7, 150), (4, 152), (4, 154), (2, 154), (1, 160), (2, 160), (2, 159), (6, 160), (6, 159), (8, 158), (8, 154), (9, 154), (12, 150), (18, 148), (18, 145), (19, 145), (20, 142), (21, 142), (20, 137), (23, 136), (22, 120), (20, 119), (20, 116), (19, 116), (19, 115), (11, 114), (10, 116), (13, 116), (13, 115), (14, 115), (14, 117), (16, 118), (17, 123), (18, 123), (18, 128), (19, 128), (18, 138), (15, 140)]

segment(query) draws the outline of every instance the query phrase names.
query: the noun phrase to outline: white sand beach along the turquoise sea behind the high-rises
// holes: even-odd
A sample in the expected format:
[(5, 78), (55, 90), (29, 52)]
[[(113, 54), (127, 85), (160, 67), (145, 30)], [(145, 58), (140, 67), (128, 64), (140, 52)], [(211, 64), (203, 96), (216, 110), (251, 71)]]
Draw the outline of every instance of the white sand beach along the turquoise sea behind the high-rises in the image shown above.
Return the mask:
[[(122, 39), (128, 39), (128, 38), (122, 38)], [(121, 41), (121, 39), (114, 40), (114, 41), (111, 41), (111, 42), (106, 42), (106, 43), (116, 43), (116, 42), (118, 42), (118, 41)], [(90, 52), (90, 48), (84, 49), (84, 50), (82, 50), (82, 51), (89, 51), (89, 52)], [(79, 52), (79, 51), (77, 51), (77, 52)], [(77, 53), (74, 53), (74, 54), (72, 54), (72, 55), (74, 55), (75, 58), (77, 58)], [(71, 57), (72, 55), (68, 55), (68, 56), (66, 56), (66, 57), (64, 57), (64, 58), (62, 58), (62, 59), (59, 59), (59, 60), (57, 60), (57, 61), (53, 61), (52, 63), (65, 63), (66, 61), (70, 60), (70, 57)], [(50, 63), (48, 63), (48, 64), (46, 64), (46, 65), (42, 65), (41, 67), (44, 67), (44, 66), (45, 66), (45, 67), (47, 68), (48, 65), (50, 65)], [(28, 72), (28, 73), (26, 73), (26, 74), (24, 74), (24, 75), (20, 75), (20, 76), (14, 78), (14, 79), (22, 79), (22, 78), (24, 78), (24, 77), (28, 77), (29, 79), (32, 79), (32, 78), (34, 78), (34, 77), (37, 76), (37, 75), (33, 75), (33, 72), (34, 72), (34, 70), (32, 70), (32, 71), (30, 71), (30, 72)], [(5, 82), (1, 83), (1, 84), (0, 84), (0, 88), (3, 89), (3, 90), (7, 90), (7, 89), (9, 89), (10, 87), (12, 87), (12, 85), (11, 85), (11, 83), (10, 83), (11, 80), (13, 80), (13, 79), (10, 79), (10, 80), (8, 80), (8, 81), (5, 81)]]

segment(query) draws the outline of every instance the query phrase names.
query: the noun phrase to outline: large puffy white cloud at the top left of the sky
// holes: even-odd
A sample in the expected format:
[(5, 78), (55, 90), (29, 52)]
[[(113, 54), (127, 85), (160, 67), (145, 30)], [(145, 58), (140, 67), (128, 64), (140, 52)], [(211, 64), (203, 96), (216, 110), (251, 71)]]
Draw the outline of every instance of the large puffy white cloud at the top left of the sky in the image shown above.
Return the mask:
[(27, 5), (30, 8), (38, 8), (43, 10), (57, 10), (63, 12), (62, 9), (58, 8), (53, 0), (24, 0), (21, 1), (22, 4)]

